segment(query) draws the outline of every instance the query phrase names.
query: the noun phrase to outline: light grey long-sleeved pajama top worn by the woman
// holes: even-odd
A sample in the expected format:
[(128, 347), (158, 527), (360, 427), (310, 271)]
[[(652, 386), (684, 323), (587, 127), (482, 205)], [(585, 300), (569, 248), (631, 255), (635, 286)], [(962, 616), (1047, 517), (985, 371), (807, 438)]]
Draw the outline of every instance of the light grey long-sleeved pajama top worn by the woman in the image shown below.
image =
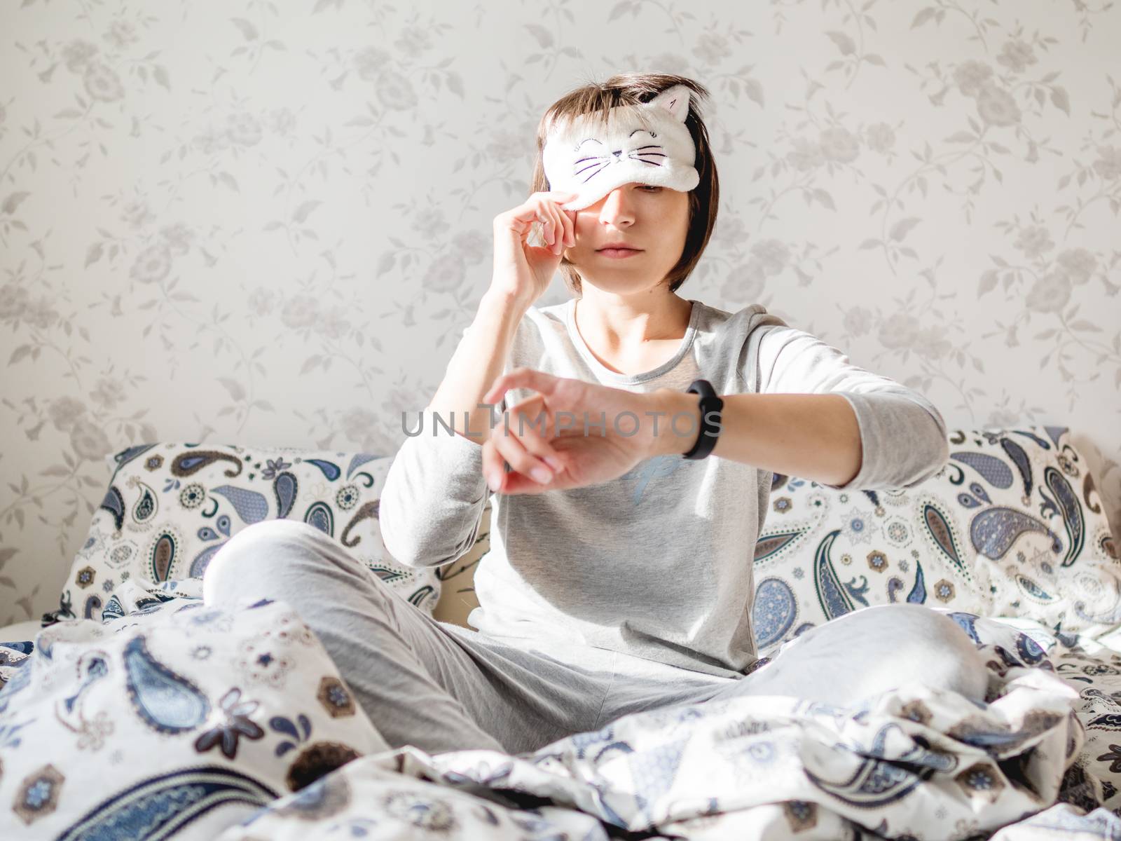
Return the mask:
[[(694, 301), (674, 357), (638, 375), (595, 359), (574, 304), (530, 307), (503, 370), (526, 366), (633, 391), (684, 390), (704, 378), (720, 395), (839, 392), (856, 414), (863, 460), (850, 482), (830, 488), (909, 488), (948, 459), (946, 425), (929, 400), (759, 304), (729, 313)], [(532, 394), (510, 389), (499, 409)], [(408, 417), (415, 429), (418, 413)], [(379, 515), (389, 553), (414, 567), (465, 554), (492, 496), (482, 446), (435, 413), (420, 420), (390, 466)], [(743, 673), (758, 659), (752, 563), (771, 480), (769, 470), (729, 459), (669, 455), (601, 484), (493, 495), (491, 548), (475, 571), (480, 607), (467, 622), (511, 640), (572, 640), (707, 674)]]

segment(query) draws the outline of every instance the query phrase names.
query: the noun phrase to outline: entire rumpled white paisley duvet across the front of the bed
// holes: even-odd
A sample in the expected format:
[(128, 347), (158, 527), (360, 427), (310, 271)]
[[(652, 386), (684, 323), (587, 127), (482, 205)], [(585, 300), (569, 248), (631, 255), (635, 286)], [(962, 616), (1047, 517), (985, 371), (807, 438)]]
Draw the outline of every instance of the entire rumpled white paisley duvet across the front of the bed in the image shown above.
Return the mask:
[(740, 697), (520, 756), (390, 750), (284, 603), (62, 622), (0, 645), (0, 834), (1112, 838), (1121, 653), (946, 612), (988, 656), (985, 704)]

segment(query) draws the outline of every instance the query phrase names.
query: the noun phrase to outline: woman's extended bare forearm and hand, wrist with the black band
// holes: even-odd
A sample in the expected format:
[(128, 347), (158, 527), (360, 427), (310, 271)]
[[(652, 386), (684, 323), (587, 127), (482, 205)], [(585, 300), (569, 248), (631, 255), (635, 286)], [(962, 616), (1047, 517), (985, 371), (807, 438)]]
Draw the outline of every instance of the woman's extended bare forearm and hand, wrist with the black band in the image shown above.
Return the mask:
[[(877, 390), (864, 382), (859, 394), (725, 395), (713, 453), (839, 490), (918, 484), (949, 458), (942, 415), (917, 392), (881, 379)], [(674, 389), (636, 392), (518, 367), (483, 399), (511, 389), (537, 394), (510, 407), (482, 446), (483, 472), (497, 492), (606, 482), (642, 460), (687, 452), (701, 429), (700, 396)], [(524, 414), (545, 423), (511, 422)], [(560, 466), (535, 481), (519, 465), (544, 447)], [(506, 463), (513, 470), (506, 472)]]

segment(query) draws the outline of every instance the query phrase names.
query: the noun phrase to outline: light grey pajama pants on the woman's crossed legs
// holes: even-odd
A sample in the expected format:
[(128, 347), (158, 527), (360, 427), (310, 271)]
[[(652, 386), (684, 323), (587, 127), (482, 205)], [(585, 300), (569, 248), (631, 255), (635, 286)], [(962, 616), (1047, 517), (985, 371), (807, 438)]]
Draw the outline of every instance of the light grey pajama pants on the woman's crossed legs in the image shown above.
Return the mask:
[(235, 534), (203, 576), (209, 606), (288, 602), (315, 631), (391, 748), (530, 752), (632, 712), (729, 695), (849, 704), (921, 680), (983, 701), (988, 669), (949, 618), (884, 604), (810, 628), (742, 677), (591, 646), (504, 640), (439, 622), (333, 538), (298, 520)]

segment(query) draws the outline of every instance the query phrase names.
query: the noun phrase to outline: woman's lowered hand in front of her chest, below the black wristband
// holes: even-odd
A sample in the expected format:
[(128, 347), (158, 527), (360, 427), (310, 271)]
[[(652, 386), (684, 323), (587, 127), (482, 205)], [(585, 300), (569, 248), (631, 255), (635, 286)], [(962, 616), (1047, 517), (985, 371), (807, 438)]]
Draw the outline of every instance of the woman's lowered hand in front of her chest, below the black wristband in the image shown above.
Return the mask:
[[(494, 405), (512, 388), (537, 394), (499, 416), (483, 443), (483, 475), (497, 492), (544, 493), (606, 482), (655, 454), (657, 437), (673, 434), (670, 417), (646, 414), (666, 410), (657, 392), (628, 391), (516, 368), (494, 380), (483, 401)], [(519, 417), (524, 418), (520, 434)], [(530, 471), (548, 466), (548, 461), (558, 468), (549, 470), (549, 479), (531, 479)], [(499, 480), (497, 487), (491, 482), (493, 477)]]

